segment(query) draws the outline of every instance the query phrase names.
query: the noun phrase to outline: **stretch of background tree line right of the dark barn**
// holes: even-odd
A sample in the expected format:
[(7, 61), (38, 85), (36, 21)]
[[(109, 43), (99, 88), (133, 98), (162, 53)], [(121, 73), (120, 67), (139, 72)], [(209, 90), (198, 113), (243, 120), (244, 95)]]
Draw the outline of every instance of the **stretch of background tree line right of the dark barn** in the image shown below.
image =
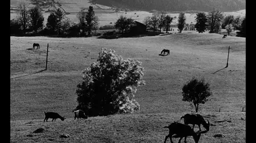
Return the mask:
[[(165, 28), (167, 33), (172, 20), (175, 18), (176, 16), (172, 18), (167, 15), (166, 12), (161, 11), (152, 14), (152, 16), (147, 16), (144, 18), (143, 23), (148, 29), (152, 29), (153, 31), (156, 31), (159, 28), (159, 31), (161, 32), (161, 29)], [(233, 15), (224, 16), (223, 12), (214, 8), (212, 11), (209, 11), (208, 14), (205, 12), (197, 13), (195, 18), (195, 28), (199, 33), (203, 33), (205, 31), (209, 31), (209, 33), (220, 33), (221, 29), (226, 29), (229, 35), (230, 32), (238, 30), (241, 32), (241, 36), (245, 37), (245, 17), (242, 18), (241, 16), (237, 16), (235, 18)], [(181, 33), (186, 24), (185, 12), (181, 12), (179, 14), (177, 21), (177, 28), (179, 33)]]

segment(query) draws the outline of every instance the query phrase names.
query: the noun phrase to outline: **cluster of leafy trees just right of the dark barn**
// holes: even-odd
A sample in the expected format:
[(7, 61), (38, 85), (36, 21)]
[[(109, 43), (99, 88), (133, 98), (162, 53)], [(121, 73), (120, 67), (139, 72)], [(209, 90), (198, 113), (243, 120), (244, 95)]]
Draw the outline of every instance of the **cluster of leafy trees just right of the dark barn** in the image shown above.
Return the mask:
[(152, 16), (147, 16), (144, 18), (143, 23), (146, 25), (148, 29), (152, 29), (154, 32), (157, 28), (161, 32), (161, 29), (166, 29), (166, 33), (170, 28), (170, 24), (174, 18), (170, 15), (167, 15), (166, 12), (157, 12), (152, 14)]

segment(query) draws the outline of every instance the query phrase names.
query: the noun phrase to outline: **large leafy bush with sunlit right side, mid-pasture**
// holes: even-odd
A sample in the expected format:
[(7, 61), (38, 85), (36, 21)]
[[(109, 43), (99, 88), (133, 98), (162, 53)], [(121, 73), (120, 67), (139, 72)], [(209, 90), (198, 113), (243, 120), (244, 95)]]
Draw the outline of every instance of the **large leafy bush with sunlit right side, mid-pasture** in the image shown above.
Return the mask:
[(142, 63), (123, 59), (114, 50), (101, 49), (98, 60), (82, 71), (77, 85), (76, 109), (89, 116), (132, 113), (139, 110), (133, 99), (137, 87), (144, 85)]

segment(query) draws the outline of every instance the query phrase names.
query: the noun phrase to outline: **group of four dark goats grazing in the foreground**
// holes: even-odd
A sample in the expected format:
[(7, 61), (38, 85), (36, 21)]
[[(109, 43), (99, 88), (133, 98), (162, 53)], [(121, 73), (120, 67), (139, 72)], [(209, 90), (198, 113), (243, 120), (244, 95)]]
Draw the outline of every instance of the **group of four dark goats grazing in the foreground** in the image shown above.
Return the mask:
[[(73, 113), (75, 114), (75, 119), (81, 119), (81, 118), (88, 119), (88, 116), (85, 115), (84, 111), (82, 111), (82, 110), (76, 110), (76, 111), (73, 111)], [(47, 122), (47, 120), (49, 118), (51, 118), (52, 121), (56, 120), (57, 118), (59, 118), (61, 120), (65, 119), (64, 116), (60, 116), (56, 112), (44, 112), (44, 115), (46, 116), (44, 118), (44, 122), (45, 122), (45, 120)], [(198, 143), (201, 133), (206, 133), (210, 129), (209, 120), (207, 120), (207, 122), (206, 122), (204, 120), (203, 116), (201, 116), (200, 114), (185, 114), (184, 116), (181, 116), (180, 119), (184, 119), (184, 124), (174, 122), (174, 123), (171, 123), (170, 125), (164, 127), (164, 128), (169, 129), (169, 134), (165, 137), (164, 143), (166, 143), (166, 140), (168, 138), (170, 138), (171, 143), (174, 143), (172, 141), (172, 137), (180, 138), (179, 143), (180, 143), (181, 139), (184, 137), (184, 142), (187, 142), (186, 139), (188, 136), (192, 136), (193, 139), (195, 140), (195, 142)], [(192, 124), (193, 128), (191, 128), (191, 126), (189, 126), (188, 124)], [(201, 124), (206, 129), (205, 131), (201, 131), (201, 127), (200, 127)], [(199, 131), (197, 131), (197, 132), (194, 131), (195, 125), (199, 126)]]

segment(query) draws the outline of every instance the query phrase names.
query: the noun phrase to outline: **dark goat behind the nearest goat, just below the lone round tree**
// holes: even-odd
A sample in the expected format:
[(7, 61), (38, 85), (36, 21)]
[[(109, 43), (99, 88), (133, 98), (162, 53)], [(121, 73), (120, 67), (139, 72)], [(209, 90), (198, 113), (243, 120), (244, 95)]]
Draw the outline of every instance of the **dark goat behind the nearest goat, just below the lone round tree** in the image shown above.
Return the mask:
[(188, 124), (192, 124), (193, 128), (195, 127), (195, 124), (198, 125), (199, 127), (199, 131), (201, 131), (200, 128), (200, 124), (203, 124), (204, 128), (207, 129), (207, 131), (209, 131), (210, 128), (210, 123), (209, 120), (207, 120), (207, 122), (205, 122), (203, 116), (201, 116), (200, 114), (185, 114), (184, 116), (181, 116), (180, 119), (184, 118), (184, 124), (188, 125)]

